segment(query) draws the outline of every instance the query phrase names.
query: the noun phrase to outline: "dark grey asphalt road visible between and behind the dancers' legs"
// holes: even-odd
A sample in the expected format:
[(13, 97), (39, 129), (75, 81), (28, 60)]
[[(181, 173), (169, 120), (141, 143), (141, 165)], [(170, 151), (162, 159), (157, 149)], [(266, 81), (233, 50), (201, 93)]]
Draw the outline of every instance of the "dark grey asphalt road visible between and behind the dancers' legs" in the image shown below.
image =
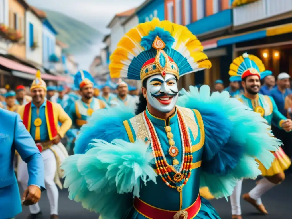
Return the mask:
[[(255, 186), (255, 181), (244, 180), (243, 193), (248, 192)], [(283, 183), (274, 187), (267, 192), (263, 197), (263, 204), (265, 205), (268, 215), (260, 215), (257, 210), (246, 203), (241, 201), (242, 216), (244, 219), (288, 219), (291, 216), (291, 197), (292, 197), (292, 175), (286, 175), (286, 179)], [(22, 190), (20, 191), (22, 194)], [(43, 212), (44, 219), (50, 218), (50, 207), (46, 192), (42, 194), (41, 201), (39, 202), (41, 210)], [(218, 211), (222, 219), (231, 218), (230, 202), (225, 199), (211, 200), (211, 204)], [(29, 214), (28, 207), (23, 208), (23, 212), (16, 217), (16, 219), (25, 219)], [(68, 199), (67, 190), (60, 190), (59, 196), (59, 218), (60, 219), (98, 219), (98, 215), (90, 213), (86, 209), (82, 208), (79, 203)]]

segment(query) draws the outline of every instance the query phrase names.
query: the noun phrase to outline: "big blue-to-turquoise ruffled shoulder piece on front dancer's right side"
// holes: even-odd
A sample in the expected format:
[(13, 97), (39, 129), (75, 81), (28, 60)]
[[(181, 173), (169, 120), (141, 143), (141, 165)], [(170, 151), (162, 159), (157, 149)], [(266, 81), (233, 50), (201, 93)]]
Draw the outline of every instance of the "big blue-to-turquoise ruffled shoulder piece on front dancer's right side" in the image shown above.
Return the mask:
[(281, 141), (273, 138), (270, 126), (227, 91), (214, 92), (203, 85), (180, 91), (178, 105), (197, 109), (202, 116), (205, 144), (200, 186), (216, 198), (232, 194), (237, 179), (260, 174), (255, 157), (268, 169)]

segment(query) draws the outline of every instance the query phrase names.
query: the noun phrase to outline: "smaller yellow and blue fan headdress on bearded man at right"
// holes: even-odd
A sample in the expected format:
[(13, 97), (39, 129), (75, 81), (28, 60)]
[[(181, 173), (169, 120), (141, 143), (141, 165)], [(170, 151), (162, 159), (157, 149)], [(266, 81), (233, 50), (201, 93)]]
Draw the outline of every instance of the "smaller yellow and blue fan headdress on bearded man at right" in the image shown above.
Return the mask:
[(260, 79), (263, 79), (272, 75), (272, 72), (265, 70), (262, 60), (258, 57), (244, 53), (230, 64), (229, 75), (230, 81), (241, 81), (241, 79), (250, 75), (257, 75)]

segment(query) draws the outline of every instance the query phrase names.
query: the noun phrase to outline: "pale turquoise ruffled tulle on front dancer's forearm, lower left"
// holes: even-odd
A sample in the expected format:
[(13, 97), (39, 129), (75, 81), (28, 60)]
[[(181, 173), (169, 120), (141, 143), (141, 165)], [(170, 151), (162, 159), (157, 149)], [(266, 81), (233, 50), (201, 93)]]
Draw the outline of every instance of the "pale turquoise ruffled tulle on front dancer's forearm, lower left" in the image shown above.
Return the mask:
[(133, 197), (139, 197), (140, 183), (156, 183), (153, 163), (151, 147), (141, 140), (108, 143), (95, 139), (85, 154), (74, 154), (63, 162), (64, 188), (69, 190), (69, 199), (103, 219), (120, 219), (132, 207)]

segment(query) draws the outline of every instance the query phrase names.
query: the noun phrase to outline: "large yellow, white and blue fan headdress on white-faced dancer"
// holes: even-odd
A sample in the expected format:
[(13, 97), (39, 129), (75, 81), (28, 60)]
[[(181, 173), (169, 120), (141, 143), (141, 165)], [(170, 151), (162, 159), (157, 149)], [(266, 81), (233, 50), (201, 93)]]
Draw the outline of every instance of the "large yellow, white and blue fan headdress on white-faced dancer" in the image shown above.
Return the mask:
[(110, 57), (112, 78), (143, 81), (166, 73), (177, 78), (211, 67), (203, 46), (187, 27), (170, 21), (152, 21), (131, 29)]

